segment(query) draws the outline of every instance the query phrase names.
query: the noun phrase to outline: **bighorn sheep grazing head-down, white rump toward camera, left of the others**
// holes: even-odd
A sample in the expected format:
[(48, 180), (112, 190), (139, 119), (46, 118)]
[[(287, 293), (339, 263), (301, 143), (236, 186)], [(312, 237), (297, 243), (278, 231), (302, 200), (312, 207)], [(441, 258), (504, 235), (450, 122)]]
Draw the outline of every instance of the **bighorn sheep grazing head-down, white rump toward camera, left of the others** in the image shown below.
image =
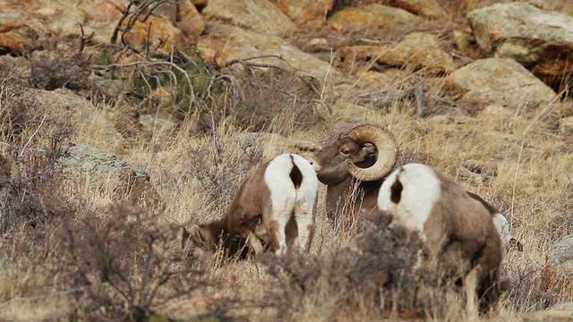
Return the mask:
[(284, 255), (298, 235), (298, 246), (309, 252), (317, 191), (318, 179), (304, 157), (275, 157), (244, 179), (222, 219), (184, 229), (182, 246), (190, 241), (192, 250), (214, 252), (221, 245), (228, 256), (244, 257), (245, 250), (256, 255), (268, 245)]

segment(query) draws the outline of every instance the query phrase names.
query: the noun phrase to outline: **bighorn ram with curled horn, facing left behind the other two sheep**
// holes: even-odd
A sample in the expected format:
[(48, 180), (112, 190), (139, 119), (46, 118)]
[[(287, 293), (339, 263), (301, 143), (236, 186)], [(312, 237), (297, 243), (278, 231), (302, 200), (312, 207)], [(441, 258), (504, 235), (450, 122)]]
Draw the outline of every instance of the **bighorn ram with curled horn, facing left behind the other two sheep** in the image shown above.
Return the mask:
[[(319, 180), (326, 184), (326, 211), (330, 219), (368, 216), (376, 209), (380, 187), (398, 161), (398, 141), (380, 123), (337, 123), (324, 147), (311, 163)], [(356, 189), (357, 187), (357, 189)], [(509, 234), (509, 225), (500, 211), (475, 193), (495, 218), (504, 245), (522, 246)]]

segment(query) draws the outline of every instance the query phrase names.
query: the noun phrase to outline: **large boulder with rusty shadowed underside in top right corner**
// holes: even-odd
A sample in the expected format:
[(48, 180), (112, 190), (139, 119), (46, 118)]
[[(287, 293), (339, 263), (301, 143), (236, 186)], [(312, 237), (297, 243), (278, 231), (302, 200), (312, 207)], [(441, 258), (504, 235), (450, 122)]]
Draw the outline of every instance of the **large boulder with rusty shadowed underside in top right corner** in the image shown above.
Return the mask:
[(474, 10), (468, 18), (486, 55), (532, 67), (554, 89), (573, 74), (573, 17), (515, 2)]

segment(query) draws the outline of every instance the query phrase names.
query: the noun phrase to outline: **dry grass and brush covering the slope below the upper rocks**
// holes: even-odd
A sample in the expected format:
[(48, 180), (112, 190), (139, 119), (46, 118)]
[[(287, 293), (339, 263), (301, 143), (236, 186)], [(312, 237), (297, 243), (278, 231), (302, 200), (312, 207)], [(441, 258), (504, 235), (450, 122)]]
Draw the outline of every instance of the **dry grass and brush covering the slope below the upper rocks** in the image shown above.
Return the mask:
[[(206, 64), (194, 48), (58, 41), (0, 57), (0, 320), (463, 320), (456, 285), (412, 269), (415, 234), (333, 227), (323, 186), (311, 256), (202, 262), (181, 250), (179, 228), (221, 216), (253, 166), (310, 157), (334, 123), (362, 120), (388, 125), (400, 163), (432, 165), (507, 216), (524, 250), (507, 250), (513, 287), (483, 319), (573, 301), (570, 267), (547, 259), (573, 234), (573, 131), (560, 123), (573, 116), (570, 82), (550, 102), (504, 107), (459, 101), (423, 69), (381, 87)], [(73, 164), (85, 143), (114, 154)], [(120, 170), (82, 175), (104, 164)]]

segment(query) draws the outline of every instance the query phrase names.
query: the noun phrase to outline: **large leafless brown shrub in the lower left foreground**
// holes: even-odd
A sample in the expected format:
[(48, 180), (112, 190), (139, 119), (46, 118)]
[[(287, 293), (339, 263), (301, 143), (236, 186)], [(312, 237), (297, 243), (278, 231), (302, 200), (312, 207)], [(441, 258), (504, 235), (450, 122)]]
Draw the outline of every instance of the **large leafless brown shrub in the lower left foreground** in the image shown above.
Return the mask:
[(178, 229), (160, 225), (157, 214), (122, 206), (111, 216), (82, 216), (60, 230), (56, 283), (84, 289), (76, 299), (88, 319), (150, 318), (167, 301), (212, 284), (180, 256)]

